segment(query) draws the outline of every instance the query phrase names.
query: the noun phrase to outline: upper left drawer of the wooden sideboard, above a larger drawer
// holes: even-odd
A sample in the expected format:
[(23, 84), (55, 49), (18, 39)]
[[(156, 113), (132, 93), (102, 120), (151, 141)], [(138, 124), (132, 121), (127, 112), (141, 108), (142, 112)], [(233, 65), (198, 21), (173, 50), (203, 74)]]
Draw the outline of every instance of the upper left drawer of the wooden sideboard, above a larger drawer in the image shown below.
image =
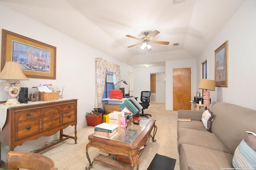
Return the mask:
[(15, 122), (34, 119), (41, 116), (41, 109), (18, 111), (15, 113)]

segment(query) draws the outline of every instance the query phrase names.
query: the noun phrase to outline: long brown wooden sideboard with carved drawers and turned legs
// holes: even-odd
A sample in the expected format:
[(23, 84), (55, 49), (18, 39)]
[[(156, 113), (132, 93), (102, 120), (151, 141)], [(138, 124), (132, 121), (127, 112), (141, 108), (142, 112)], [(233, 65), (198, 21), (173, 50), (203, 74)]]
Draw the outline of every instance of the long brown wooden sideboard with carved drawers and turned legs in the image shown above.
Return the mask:
[[(74, 136), (63, 134), (63, 129), (69, 125), (74, 125)], [(33, 103), (27, 106), (16, 105), (7, 109), (6, 122), (0, 131), (0, 144), (4, 143), (9, 146), (10, 150), (14, 150), (25, 141), (51, 136), (58, 131), (60, 131), (59, 141), (39, 149), (35, 153), (42, 152), (70, 138), (74, 139), (76, 144), (76, 125), (76, 99)], [(0, 165), (6, 167), (6, 162), (1, 159), (1, 153)]]

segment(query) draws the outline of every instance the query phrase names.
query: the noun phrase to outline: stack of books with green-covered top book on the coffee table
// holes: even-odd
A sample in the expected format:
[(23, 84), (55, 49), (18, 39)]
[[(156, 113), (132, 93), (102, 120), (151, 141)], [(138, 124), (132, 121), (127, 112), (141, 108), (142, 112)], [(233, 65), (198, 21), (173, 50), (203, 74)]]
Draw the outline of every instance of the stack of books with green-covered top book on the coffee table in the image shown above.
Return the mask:
[(111, 123), (101, 123), (95, 126), (93, 136), (111, 140), (118, 135), (117, 129), (119, 126)]

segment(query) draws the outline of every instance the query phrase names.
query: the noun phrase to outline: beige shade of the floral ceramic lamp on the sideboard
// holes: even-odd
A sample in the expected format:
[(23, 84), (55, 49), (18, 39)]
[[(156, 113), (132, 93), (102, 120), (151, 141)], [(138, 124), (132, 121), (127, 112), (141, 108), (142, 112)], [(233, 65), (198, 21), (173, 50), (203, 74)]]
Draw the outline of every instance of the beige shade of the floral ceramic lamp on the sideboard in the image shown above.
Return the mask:
[(4, 69), (0, 72), (0, 80), (29, 80), (22, 72), (20, 63), (6, 61)]

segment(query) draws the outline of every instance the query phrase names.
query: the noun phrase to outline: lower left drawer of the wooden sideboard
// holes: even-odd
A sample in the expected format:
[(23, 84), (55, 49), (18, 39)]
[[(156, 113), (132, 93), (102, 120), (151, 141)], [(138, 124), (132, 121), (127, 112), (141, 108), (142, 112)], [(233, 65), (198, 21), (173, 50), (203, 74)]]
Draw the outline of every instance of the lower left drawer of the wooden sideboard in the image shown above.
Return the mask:
[(38, 119), (15, 123), (15, 141), (31, 137), (38, 133)]

